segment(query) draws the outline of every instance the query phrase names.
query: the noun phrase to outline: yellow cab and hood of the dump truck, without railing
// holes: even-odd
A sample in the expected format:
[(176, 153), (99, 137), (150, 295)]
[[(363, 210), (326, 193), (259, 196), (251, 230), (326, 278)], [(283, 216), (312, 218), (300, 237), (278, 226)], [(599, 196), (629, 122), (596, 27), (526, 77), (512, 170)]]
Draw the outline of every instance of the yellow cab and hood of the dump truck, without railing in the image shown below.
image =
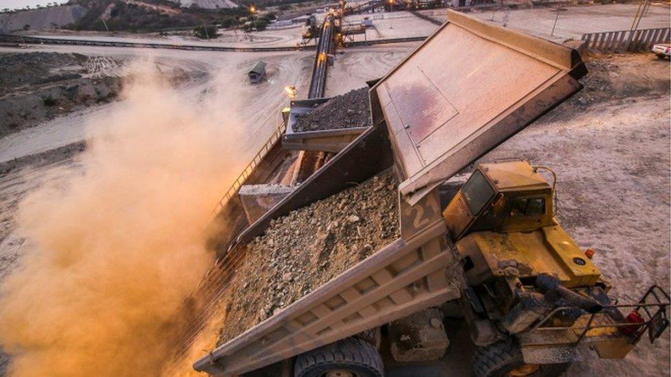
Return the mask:
[(479, 165), (443, 217), (470, 284), (503, 277), (509, 267), (522, 280), (557, 275), (569, 288), (601, 277), (555, 220), (552, 185), (526, 161)]

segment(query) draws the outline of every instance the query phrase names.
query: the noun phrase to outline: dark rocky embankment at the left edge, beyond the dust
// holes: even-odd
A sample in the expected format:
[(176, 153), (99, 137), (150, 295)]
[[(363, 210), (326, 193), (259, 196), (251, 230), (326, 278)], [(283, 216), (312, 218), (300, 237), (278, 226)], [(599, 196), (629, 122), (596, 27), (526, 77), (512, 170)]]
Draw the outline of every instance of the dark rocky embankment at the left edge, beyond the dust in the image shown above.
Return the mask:
[(8, 53), (0, 54), (0, 67), (0, 137), (109, 102), (122, 89), (122, 62), (113, 58)]

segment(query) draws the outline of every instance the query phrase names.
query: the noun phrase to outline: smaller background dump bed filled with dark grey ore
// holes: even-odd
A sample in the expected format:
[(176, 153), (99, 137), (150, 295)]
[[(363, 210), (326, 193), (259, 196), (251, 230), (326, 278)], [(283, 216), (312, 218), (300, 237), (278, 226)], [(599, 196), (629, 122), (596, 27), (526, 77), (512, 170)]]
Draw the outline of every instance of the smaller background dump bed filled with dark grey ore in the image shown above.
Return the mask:
[(282, 148), (340, 152), (371, 126), (368, 89), (291, 102)]

